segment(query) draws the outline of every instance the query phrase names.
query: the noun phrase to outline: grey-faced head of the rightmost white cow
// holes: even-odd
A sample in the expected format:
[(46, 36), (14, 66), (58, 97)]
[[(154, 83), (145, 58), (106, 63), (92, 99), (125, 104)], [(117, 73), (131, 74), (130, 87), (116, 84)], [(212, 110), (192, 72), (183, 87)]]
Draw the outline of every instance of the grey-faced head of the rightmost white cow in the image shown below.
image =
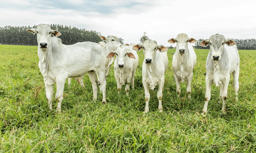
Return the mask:
[(227, 46), (233, 46), (237, 45), (236, 42), (234, 42), (231, 39), (225, 39), (223, 35), (215, 34), (210, 37), (209, 40), (203, 40), (200, 43), (200, 46), (207, 47), (210, 44), (210, 51), (212, 53), (211, 59), (214, 61), (221, 60), (221, 54), (224, 49), (224, 45)]

